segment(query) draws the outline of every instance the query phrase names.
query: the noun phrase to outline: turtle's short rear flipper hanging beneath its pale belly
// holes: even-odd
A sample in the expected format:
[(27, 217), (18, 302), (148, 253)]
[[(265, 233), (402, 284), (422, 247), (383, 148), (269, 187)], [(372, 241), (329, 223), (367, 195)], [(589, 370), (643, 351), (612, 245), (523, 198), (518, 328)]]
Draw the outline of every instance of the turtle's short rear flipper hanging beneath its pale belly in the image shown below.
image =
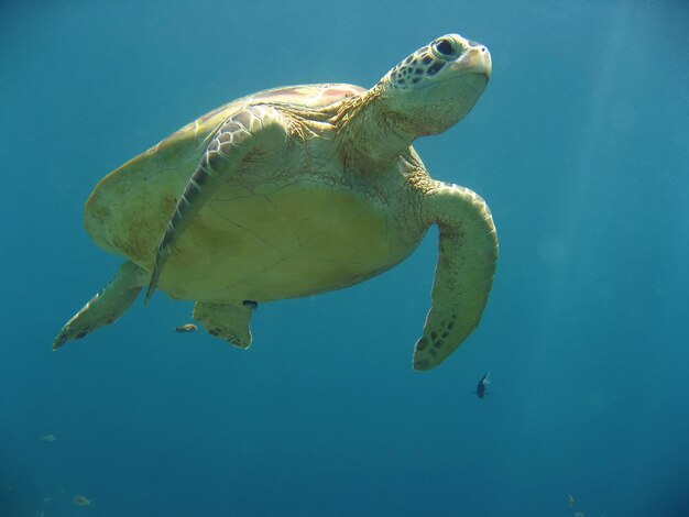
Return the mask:
[(210, 336), (229, 341), (240, 349), (248, 349), (251, 344), (249, 322), (256, 307), (255, 301), (249, 300), (241, 304), (197, 301), (193, 317)]

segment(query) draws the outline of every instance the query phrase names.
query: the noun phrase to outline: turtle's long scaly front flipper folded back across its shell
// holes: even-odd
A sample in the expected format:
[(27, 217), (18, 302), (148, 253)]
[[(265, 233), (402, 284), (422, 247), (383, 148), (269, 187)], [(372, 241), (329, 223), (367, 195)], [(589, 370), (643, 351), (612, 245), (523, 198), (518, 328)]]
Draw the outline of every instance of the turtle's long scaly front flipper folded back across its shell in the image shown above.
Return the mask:
[(284, 143), (285, 124), (281, 113), (271, 107), (250, 106), (229, 117), (214, 135), (198, 167), (189, 178), (157, 248), (153, 273), (146, 289), (147, 301), (161, 276), (165, 260), (194, 216), (228, 178), (238, 172), (242, 161), (256, 148)]

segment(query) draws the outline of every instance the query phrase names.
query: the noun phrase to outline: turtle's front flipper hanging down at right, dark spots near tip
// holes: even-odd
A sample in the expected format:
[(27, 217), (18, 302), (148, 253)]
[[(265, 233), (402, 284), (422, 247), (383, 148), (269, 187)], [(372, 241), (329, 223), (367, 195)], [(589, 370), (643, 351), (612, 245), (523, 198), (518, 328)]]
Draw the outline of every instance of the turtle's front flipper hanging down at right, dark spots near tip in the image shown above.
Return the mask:
[(497, 262), (495, 226), (481, 197), (435, 182), (425, 202), (429, 222), (440, 230), (440, 242), (433, 307), (416, 342), (415, 370), (440, 364), (479, 324)]

